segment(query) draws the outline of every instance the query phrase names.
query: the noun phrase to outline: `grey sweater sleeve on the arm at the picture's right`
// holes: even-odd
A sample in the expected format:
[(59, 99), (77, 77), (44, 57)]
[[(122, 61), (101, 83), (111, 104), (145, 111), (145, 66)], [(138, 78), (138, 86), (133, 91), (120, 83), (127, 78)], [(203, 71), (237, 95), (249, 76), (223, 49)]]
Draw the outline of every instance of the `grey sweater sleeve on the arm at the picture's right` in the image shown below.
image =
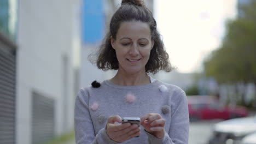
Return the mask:
[(177, 105), (172, 107), (170, 131), (162, 139), (147, 133), (149, 144), (187, 144), (189, 137), (188, 101), (185, 92), (178, 95)]

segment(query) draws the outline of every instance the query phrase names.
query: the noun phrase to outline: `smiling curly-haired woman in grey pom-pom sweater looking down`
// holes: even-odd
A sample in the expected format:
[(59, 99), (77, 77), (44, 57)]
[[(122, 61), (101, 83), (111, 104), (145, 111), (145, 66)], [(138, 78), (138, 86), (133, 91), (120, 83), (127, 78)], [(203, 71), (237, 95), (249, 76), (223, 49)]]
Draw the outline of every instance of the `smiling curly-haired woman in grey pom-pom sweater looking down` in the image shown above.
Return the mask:
[[(75, 139), (84, 143), (188, 143), (184, 91), (148, 76), (171, 71), (152, 13), (142, 1), (122, 1), (110, 21), (97, 67), (117, 74), (80, 89), (75, 101)], [(121, 123), (140, 117), (141, 125)]]

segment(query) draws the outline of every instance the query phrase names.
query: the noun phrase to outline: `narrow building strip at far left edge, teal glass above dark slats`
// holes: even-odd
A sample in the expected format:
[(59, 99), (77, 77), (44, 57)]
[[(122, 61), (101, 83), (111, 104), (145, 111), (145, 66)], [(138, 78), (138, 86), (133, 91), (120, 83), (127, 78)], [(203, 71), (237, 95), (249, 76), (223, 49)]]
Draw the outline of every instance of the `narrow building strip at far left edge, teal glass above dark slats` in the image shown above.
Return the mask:
[(16, 137), (16, 1), (0, 1), (0, 143)]

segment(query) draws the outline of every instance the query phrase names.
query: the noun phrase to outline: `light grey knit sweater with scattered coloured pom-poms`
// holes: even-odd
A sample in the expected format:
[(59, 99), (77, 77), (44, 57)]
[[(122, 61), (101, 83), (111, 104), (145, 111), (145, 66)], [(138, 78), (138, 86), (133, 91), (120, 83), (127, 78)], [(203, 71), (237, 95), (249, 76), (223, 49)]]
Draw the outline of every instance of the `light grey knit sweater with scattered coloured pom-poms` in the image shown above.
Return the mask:
[(75, 140), (77, 144), (112, 144), (106, 133), (109, 116), (141, 117), (159, 113), (166, 120), (165, 136), (158, 139), (144, 131), (123, 143), (188, 143), (189, 115), (185, 92), (158, 80), (143, 86), (119, 86), (103, 81), (98, 88), (80, 89), (75, 99)]

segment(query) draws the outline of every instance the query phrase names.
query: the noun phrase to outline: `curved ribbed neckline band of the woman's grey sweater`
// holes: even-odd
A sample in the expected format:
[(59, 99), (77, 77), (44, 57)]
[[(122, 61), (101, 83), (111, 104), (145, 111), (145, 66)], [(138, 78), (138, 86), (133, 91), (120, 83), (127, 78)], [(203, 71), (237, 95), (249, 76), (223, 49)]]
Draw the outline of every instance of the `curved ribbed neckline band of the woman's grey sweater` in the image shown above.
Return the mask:
[(152, 88), (154, 86), (159, 85), (159, 81), (155, 80), (152, 83), (148, 83), (147, 85), (141, 85), (141, 86), (120, 86), (116, 85), (115, 83), (111, 82), (110, 80), (104, 80), (103, 83), (106, 83), (107, 86), (117, 88), (117, 89), (147, 89), (147, 88)]

